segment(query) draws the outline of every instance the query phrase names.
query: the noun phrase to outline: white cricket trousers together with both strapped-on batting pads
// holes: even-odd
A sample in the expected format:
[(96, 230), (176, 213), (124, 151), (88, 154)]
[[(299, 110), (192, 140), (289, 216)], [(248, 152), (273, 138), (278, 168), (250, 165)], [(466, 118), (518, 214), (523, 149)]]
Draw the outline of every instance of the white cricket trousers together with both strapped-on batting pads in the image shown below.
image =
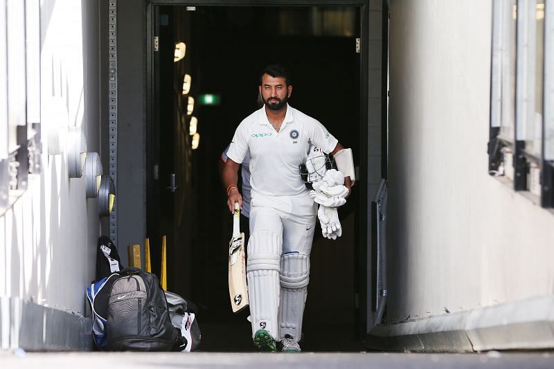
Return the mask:
[(247, 278), (252, 334), (301, 339), (317, 206), (295, 196), (252, 193)]

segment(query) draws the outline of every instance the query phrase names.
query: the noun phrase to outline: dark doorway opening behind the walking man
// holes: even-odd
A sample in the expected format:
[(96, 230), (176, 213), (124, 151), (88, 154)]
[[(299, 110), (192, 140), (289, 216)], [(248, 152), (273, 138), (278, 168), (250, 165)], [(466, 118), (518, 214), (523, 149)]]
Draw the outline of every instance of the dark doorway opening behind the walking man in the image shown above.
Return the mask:
[[(320, 120), (364, 165), (366, 117), (356, 47), (360, 17), (359, 7), (152, 7), (157, 51), (152, 53), (147, 138), (148, 236), (168, 237), (168, 287), (199, 306), (204, 350), (251, 350), (248, 314), (233, 315), (229, 303), (226, 251), (232, 226), (217, 170), (222, 151), (258, 106), (260, 71), (279, 63), (292, 72), (290, 105)], [(179, 42), (186, 44), (186, 53), (174, 62)], [(184, 75), (190, 75), (187, 93)], [(206, 94), (217, 103), (202, 100)], [(194, 98), (192, 114), (189, 97)], [(193, 117), (198, 147), (189, 132)], [(361, 186), (356, 189), (339, 210), (343, 236), (329, 241), (316, 231), (304, 350), (360, 348), (355, 259), (364, 233), (359, 219), (365, 219), (367, 208)], [(159, 242), (151, 242), (157, 272)]]

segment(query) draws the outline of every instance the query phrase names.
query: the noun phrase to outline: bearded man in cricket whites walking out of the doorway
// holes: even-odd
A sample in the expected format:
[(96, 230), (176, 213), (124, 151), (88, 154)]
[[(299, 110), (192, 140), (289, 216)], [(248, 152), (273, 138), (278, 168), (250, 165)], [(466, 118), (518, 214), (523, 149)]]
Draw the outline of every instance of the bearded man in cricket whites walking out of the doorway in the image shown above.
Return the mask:
[[(339, 170), (344, 167), (343, 176), (353, 178), (352, 154), (318, 120), (288, 105), (292, 84), (282, 66), (267, 66), (258, 88), (264, 106), (236, 129), (223, 180), (232, 213), (235, 202), (242, 206), (236, 183), (239, 164), (249, 152), (247, 279), (254, 345), (262, 351), (276, 351), (279, 342), (281, 350), (299, 352), (317, 204), (298, 168), (305, 163), (311, 144), (326, 154), (346, 152), (337, 166)], [(348, 192), (350, 177), (343, 182)]]

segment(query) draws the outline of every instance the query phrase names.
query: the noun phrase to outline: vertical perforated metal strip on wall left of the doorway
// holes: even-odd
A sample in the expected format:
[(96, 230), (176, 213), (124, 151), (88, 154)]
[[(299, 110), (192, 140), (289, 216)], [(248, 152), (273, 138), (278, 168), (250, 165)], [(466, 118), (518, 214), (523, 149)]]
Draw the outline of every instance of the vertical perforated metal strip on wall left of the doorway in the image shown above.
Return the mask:
[[(117, 188), (117, 0), (109, 0), (109, 175)], [(117, 197), (109, 214), (109, 237), (117, 244)]]

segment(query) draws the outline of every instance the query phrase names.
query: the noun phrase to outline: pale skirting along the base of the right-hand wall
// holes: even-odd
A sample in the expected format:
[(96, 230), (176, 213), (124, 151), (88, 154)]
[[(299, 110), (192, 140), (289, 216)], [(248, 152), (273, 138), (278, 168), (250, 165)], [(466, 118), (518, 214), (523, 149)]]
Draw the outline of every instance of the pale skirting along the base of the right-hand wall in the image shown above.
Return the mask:
[(554, 348), (554, 296), (377, 325), (369, 350), (480, 352)]

